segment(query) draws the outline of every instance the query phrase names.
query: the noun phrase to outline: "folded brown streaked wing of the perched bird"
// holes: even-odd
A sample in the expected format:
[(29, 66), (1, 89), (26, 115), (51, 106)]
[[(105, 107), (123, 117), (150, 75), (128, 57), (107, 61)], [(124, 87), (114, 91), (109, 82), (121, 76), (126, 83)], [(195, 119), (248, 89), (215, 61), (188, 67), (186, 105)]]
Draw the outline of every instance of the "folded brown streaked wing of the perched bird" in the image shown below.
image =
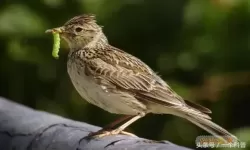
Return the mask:
[(136, 57), (114, 47), (95, 53), (96, 57), (85, 62), (86, 71), (94, 77), (131, 92), (143, 101), (172, 107), (185, 105), (180, 96)]

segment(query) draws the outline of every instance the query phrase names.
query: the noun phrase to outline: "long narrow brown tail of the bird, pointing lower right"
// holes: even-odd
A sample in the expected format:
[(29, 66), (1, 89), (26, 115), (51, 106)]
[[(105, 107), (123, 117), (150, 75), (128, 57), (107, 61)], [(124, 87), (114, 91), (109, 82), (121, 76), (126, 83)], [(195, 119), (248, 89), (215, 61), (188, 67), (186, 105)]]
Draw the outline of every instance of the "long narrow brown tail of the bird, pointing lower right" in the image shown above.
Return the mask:
[(198, 127), (206, 130), (208, 133), (221, 138), (222, 140), (224, 140), (224, 142), (229, 142), (228, 140), (232, 138), (235, 142), (239, 141), (236, 136), (232, 135), (227, 130), (212, 122), (208, 117), (187, 112), (179, 112), (176, 115), (189, 120)]

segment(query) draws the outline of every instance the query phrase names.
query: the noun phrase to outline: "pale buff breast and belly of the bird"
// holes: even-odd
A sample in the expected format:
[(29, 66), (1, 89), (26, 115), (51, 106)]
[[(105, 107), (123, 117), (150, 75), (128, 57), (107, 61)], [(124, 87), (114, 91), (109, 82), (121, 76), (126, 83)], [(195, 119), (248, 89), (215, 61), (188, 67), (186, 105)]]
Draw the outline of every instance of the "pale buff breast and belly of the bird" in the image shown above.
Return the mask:
[(99, 85), (93, 76), (86, 74), (86, 64), (68, 61), (67, 69), (77, 92), (91, 104), (117, 114), (136, 115), (144, 105), (126, 92), (109, 92), (106, 86)]

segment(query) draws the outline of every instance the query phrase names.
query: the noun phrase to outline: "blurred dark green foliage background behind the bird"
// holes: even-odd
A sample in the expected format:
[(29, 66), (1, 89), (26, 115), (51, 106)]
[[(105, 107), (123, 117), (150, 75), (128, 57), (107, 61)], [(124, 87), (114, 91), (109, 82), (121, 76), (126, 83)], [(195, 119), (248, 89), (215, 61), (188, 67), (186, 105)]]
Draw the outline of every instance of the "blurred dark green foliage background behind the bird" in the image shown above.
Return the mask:
[[(146, 62), (213, 121), (250, 142), (249, 0), (1, 0), (0, 96), (38, 110), (104, 126), (120, 117), (78, 95), (68, 48), (51, 56), (44, 31), (94, 13), (109, 42)], [(170, 115), (148, 115), (128, 131), (195, 148), (207, 133)]]

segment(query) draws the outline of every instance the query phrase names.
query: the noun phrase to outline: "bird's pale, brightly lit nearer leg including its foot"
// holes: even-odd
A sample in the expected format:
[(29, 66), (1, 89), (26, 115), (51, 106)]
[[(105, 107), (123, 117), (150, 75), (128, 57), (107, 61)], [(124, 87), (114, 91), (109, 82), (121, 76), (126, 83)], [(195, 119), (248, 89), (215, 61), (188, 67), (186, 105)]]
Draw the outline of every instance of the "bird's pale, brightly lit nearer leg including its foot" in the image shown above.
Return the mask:
[(127, 122), (125, 122), (124, 124), (122, 124), (121, 126), (119, 126), (118, 128), (111, 130), (111, 131), (105, 131), (102, 132), (100, 134), (96, 134), (95, 137), (104, 137), (104, 136), (108, 136), (108, 135), (116, 135), (116, 134), (124, 134), (124, 135), (129, 135), (129, 136), (135, 136), (132, 133), (128, 133), (128, 132), (124, 132), (123, 130), (125, 128), (127, 128), (129, 125), (131, 125), (132, 123), (134, 123), (136, 120), (142, 118), (144, 116), (144, 114), (139, 114), (134, 116), (133, 118), (131, 118), (130, 120), (128, 120)]

